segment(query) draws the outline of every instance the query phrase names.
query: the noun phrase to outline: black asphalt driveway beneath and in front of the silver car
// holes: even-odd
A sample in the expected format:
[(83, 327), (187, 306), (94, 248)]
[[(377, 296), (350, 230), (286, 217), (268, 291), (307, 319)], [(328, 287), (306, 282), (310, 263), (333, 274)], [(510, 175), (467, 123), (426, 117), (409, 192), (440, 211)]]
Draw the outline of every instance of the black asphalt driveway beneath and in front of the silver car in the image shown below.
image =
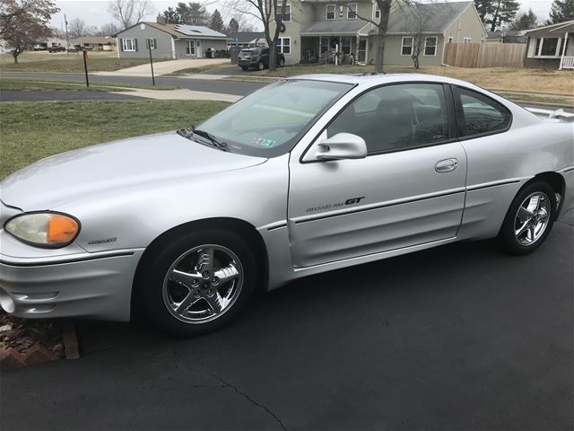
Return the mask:
[(574, 217), (535, 254), (452, 244), (300, 279), (225, 330), (83, 322), (2, 376), (9, 429), (572, 429)]

